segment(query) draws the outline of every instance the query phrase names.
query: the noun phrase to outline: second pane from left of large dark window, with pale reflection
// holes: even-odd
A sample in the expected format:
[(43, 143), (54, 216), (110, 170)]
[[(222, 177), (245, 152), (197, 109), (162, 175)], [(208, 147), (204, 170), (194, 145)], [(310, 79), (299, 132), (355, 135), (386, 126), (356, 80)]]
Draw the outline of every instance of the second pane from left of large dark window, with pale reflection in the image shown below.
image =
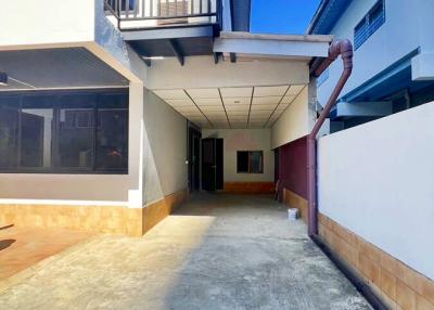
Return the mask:
[(49, 168), (53, 105), (50, 96), (25, 96), (21, 113), (21, 167)]

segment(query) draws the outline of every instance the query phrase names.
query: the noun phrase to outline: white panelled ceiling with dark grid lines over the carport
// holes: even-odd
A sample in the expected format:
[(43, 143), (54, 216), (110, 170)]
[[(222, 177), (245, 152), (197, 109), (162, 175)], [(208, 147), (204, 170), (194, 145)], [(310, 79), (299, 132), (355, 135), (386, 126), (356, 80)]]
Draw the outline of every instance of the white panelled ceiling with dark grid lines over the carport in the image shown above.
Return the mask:
[(154, 93), (201, 128), (269, 128), (304, 87), (173, 89)]

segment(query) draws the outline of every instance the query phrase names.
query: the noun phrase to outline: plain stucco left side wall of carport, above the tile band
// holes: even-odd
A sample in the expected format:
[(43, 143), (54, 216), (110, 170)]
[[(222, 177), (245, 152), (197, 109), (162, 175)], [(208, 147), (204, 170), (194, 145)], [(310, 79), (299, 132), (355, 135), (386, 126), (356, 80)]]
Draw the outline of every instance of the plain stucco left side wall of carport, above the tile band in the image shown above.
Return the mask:
[(143, 204), (188, 188), (187, 119), (151, 91), (143, 102)]

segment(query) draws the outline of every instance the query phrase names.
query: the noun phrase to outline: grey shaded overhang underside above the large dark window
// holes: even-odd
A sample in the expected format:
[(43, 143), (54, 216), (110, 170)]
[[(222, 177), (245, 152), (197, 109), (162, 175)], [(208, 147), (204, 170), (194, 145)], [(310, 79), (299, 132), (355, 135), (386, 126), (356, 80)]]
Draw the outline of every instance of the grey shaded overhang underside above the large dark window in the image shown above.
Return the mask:
[(125, 87), (128, 80), (85, 48), (0, 51), (0, 91)]

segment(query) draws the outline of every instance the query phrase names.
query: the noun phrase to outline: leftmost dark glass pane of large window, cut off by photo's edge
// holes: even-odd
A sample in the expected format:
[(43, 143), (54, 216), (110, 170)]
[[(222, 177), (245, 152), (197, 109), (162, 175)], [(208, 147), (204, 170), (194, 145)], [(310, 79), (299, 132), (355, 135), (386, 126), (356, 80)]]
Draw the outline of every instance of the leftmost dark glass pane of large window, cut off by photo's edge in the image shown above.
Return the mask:
[(0, 168), (15, 168), (18, 147), (20, 99), (0, 98)]

